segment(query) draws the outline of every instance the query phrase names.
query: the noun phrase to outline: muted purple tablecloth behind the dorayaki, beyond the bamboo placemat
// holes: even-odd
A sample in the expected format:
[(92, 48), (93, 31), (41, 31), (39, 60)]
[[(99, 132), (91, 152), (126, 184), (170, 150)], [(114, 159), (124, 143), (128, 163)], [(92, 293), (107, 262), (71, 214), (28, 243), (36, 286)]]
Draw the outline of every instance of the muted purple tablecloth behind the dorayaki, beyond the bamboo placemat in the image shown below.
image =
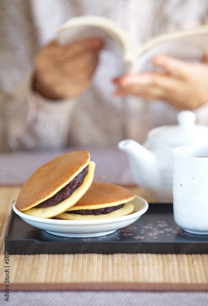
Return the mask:
[[(18, 152), (0, 154), (0, 185), (23, 185), (40, 166), (58, 155), (75, 151), (66, 150), (29, 151), (20, 156)], [(90, 159), (96, 163), (94, 181), (117, 185), (135, 185), (127, 158), (121, 157), (117, 148), (91, 149)]]

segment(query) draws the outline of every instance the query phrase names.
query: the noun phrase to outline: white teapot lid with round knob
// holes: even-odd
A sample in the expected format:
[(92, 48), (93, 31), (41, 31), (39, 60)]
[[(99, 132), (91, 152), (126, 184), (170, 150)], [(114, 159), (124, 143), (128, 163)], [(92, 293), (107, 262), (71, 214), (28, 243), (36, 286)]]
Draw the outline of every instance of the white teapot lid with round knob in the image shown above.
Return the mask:
[(177, 114), (178, 125), (164, 125), (152, 130), (155, 141), (179, 147), (190, 144), (208, 144), (208, 126), (195, 125), (196, 115), (190, 110)]

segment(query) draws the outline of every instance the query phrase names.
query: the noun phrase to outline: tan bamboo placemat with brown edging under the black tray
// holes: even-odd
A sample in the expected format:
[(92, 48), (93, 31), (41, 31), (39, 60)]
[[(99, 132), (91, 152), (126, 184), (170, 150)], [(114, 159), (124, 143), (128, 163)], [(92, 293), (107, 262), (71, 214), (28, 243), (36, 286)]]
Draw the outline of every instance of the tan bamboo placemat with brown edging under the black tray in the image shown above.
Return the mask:
[[(156, 199), (127, 187), (149, 202)], [(4, 237), (20, 187), (0, 187), (0, 289)], [(208, 290), (207, 254), (39, 254), (9, 256), (11, 290)]]

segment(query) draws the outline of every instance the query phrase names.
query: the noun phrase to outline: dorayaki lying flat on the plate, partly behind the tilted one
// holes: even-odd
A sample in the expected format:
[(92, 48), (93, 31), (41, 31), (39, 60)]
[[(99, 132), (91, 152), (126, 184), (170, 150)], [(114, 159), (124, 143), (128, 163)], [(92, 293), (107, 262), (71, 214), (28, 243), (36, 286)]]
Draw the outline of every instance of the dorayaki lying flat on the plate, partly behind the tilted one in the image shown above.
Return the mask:
[(93, 182), (86, 194), (66, 212), (56, 217), (63, 220), (96, 220), (129, 215), (135, 194), (126, 188)]

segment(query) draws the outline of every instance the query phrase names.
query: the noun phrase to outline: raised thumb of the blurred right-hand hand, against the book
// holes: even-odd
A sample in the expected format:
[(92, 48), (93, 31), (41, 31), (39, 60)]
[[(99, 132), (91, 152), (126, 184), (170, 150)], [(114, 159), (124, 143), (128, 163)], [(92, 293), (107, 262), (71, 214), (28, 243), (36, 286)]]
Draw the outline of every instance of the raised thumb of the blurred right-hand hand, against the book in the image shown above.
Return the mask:
[(169, 59), (165, 55), (158, 55), (153, 59), (153, 63), (176, 78), (186, 79), (189, 74), (188, 64), (177, 58)]

